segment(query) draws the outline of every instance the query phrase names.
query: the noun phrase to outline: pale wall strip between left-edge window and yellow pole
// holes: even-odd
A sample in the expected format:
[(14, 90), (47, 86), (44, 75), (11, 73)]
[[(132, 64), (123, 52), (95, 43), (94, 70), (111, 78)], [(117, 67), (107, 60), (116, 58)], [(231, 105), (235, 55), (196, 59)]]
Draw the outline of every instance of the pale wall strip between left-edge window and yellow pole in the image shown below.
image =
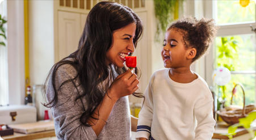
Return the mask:
[(24, 104), (24, 4), (7, 1), (9, 104)]

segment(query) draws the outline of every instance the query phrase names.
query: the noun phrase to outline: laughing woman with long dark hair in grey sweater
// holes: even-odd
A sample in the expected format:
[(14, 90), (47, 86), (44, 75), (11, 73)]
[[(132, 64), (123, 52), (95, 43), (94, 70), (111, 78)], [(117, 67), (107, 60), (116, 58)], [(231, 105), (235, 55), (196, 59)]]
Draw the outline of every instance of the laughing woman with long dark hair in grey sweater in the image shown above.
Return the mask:
[(58, 139), (131, 139), (137, 119), (127, 95), (139, 88), (137, 69), (126, 70), (142, 22), (127, 6), (103, 1), (89, 12), (78, 49), (57, 62), (45, 82)]

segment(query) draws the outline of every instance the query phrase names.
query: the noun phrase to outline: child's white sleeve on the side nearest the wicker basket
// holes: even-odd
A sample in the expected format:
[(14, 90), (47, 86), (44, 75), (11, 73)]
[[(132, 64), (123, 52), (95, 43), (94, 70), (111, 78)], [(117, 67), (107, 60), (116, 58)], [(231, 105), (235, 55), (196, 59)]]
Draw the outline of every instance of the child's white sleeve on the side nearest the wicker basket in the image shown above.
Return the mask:
[(216, 122), (212, 113), (213, 99), (210, 91), (207, 94), (208, 97), (200, 98), (195, 104), (194, 113), (198, 121), (195, 129), (195, 140), (211, 140), (214, 132)]

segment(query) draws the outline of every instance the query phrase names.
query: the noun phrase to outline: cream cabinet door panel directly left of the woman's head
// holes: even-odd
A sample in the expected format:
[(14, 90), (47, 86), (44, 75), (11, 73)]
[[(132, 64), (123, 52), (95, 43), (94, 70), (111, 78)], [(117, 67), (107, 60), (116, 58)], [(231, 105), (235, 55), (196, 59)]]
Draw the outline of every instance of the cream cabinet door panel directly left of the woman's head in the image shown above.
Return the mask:
[(69, 56), (78, 48), (81, 36), (80, 14), (58, 11), (58, 59)]

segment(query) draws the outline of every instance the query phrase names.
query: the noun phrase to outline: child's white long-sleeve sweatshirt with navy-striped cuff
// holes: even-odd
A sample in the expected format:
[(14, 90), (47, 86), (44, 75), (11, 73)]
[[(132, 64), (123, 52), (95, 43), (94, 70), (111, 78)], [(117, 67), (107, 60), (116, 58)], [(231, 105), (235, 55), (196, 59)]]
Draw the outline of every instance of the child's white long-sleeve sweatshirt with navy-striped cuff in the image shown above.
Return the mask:
[(150, 77), (136, 139), (211, 139), (215, 120), (207, 83), (198, 74), (191, 83), (174, 82), (169, 70), (158, 70)]

